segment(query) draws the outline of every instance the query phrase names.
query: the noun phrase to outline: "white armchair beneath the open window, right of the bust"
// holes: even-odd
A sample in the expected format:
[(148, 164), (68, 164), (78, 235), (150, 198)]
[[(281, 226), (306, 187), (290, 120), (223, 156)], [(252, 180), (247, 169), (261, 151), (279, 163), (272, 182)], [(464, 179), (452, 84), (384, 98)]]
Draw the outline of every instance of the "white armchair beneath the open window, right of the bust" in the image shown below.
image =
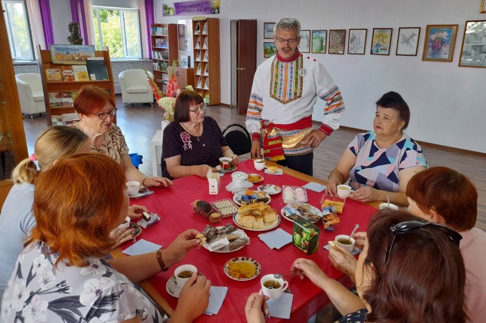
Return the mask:
[[(148, 72), (154, 78), (154, 74)], [(121, 87), (121, 99), (123, 104), (127, 103), (150, 103), (154, 102), (152, 88), (147, 82), (147, 75), (141, 69), (126, 70), (118, 75)]]

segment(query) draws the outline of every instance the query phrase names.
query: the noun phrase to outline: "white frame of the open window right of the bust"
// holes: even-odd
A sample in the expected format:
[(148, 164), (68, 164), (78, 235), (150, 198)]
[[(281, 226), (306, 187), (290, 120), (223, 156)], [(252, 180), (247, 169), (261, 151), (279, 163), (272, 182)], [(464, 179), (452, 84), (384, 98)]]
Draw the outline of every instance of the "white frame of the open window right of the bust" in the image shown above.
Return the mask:
[[(107, 7), (107, 6), (92, 6), (93, 10), (96, 10), (96, 22), (98, 24), (98, 36), (100, 39), (100, 48), (103, 48), (103, 35), (101, 32), (101, 20), (100, 20), (100, 9), (101, 10), (118, 10), (120, 11), (120, 25), (121, 25), (121, 47), (123, 48), (123, 57), (110, 57), (113, 60), (116, 59), (142, 59), (143, 58), (143, 47), (142, 47), (142, 34), (141, 34), (141, 26), (140, 26), (140, 10), (133, 9), (133, 8), (120, 8), (120, 7)], [(138, 17), (137, 23), (137, 32), (139, 34), (139, 55), (138, 56), (131, 56), (127, 54), (127, 45), (126, 45), (126, 35), (125, 35), (125, 17), (124, 13), (136, 13)], [(92, 16), (94, 18), (94, 15)], [(96, 34), (93, 29), (93, 39), (96, 39)], [(96, 44), (95, 46), (97, 46)]]

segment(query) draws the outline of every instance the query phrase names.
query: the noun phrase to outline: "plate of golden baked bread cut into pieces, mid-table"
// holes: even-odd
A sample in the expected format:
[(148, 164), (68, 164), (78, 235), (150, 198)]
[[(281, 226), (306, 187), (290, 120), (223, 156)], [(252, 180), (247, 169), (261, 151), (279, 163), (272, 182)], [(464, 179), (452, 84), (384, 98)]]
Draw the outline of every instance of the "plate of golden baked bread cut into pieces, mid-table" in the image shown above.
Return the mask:
[(233, 215), (233, 221), (240, 228), (250, 231), (267, 231), (278, 226), (280, 216), (275, 209), (263, 202), (243, 205)]

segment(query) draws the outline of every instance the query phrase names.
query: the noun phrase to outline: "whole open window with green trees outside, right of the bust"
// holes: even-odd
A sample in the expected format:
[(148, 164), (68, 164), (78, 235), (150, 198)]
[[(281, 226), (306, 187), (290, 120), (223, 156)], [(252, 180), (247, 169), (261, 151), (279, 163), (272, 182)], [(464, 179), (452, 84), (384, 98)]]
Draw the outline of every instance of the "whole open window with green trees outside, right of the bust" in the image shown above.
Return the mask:
[(96, 48), (115, 58), (142, 58), (139, 10), (93, 6)]

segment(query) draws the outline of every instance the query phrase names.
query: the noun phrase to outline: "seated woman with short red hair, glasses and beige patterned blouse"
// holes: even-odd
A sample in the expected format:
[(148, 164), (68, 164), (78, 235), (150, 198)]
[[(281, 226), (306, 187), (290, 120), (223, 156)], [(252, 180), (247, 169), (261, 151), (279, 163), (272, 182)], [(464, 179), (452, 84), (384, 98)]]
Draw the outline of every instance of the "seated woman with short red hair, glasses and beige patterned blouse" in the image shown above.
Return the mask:
[(74, 109), (81, 121), (73, 126), (86, 133), (91, 152), (108, 155), (117, 161), (123, 166), (126, 181), (138, 181), (146, 187), (173, 185), (169, 179), (147, 177), (135, 168), (125, 137), (113, 123), (113, 116), (117, 113), (115, 101), (105, 90), (91, 85), (82, 87), (74, 100)]

